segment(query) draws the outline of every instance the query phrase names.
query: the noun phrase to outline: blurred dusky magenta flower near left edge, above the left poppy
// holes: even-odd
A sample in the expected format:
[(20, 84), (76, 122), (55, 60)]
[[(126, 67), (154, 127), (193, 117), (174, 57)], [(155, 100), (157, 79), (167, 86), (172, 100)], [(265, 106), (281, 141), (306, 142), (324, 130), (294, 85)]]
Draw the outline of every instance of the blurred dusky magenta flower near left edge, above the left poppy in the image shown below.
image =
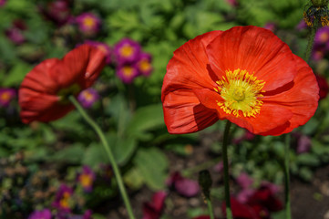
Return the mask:
[(25, 30), (25, 22), (23, 20), (15, 20), (13, 25), (5, 30), (5, 36), (16, 45), (20, 45), (26, 41), (26, 37), (23, 35)]

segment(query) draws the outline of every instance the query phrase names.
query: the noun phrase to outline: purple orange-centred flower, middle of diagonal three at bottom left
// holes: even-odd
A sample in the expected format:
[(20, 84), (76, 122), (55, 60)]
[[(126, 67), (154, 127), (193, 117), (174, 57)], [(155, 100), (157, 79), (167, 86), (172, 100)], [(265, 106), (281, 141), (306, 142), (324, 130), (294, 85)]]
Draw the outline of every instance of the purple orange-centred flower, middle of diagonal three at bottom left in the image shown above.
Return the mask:
[(55, 201), (52, 206), (64, 212), (71, 211), (73, 190), (66, 184), (61, 184), (57, 191)]

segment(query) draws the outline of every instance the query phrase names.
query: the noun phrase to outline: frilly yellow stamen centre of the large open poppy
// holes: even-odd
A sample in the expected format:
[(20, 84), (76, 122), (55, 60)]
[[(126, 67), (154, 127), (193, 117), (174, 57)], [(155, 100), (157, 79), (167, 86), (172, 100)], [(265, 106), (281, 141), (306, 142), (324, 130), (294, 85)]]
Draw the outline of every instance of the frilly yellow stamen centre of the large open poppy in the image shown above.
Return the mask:
[(246, 70), (235, 69), (226, 70), (226, 77), (216, 81), (216, 92), (221, 95), (223, 100), (217, 101), (228, 114), (236, 117), (255, 117), (259, 114), (262, 107), (262, 88), (265, 82), (258, 80)]

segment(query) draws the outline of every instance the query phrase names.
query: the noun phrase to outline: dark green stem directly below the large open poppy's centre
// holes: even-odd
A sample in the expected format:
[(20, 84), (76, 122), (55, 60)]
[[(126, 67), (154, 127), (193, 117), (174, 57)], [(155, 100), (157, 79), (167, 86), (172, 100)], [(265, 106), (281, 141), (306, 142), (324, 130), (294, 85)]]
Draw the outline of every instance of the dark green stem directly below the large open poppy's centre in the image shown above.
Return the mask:
[(226, 203), (226, 218), (233, 219), (231, 214), (231, 198), (230, 198), (230, 176), (229, 176), (229, 162), (227, 155), (227, 146), (229, 144), (231, 121), (227, 120), (224, 137), (222, 141), (222, 163), (224, 170), (224, 186), (225, 186), (225, 203)]

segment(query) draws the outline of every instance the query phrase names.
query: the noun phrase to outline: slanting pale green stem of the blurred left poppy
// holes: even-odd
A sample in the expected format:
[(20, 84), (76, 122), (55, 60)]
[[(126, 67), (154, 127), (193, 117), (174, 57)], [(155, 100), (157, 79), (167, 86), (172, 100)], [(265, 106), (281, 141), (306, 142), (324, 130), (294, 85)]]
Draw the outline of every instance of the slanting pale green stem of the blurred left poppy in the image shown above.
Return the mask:
[(119, 189), (122, 199), (126, 205), (127, 212), (129, 214), (129, 219), (135, 219), (135, 216), (132, 213), (131, 205), (129, 203), (129, 197), (127, 195), (125, 186), (122, 181), (121, 173), (118, 169), (118, 165), (114, 159), (113, 153), (112, 153), (111, 149), (109, 148), (108, 141), (105, 138), (104, 132), (99, 128), (98, 124), (87, 115), (86, 110), (84, 110), (81, 107), (81, 105), (78, 103), (77, 99), (74, 96), (69, 96), (68, 99), (73, 103), (73, 105), (79, 111), (81, 116), (87, 121), (87, 123), (98, 133), (98, 137), (99, 137), (100, 141), (102, 141), (105, 151), (107, 151), (107, 153), (108, 153), (108, 159), (109, 159), (109, 162), (111, 162), (113, 172), (116, 176), (117, 183), (118, 183), (118, 189)]

